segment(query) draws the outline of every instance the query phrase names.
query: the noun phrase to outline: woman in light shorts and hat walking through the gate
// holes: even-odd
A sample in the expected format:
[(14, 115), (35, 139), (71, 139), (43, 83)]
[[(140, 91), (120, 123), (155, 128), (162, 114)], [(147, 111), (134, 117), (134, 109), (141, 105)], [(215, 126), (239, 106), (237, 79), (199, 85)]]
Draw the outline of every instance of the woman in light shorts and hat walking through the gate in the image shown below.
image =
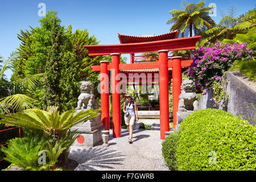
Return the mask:
[(138, 121), (138, 111), (137, 105), (134, 102), (133, 98), (130, 95), (126, 95), (126, 102), (123, 104), (123, 112), (125, 113), (125, 124), (129, 131), (129, 143), (133, 143), (131, 140), (133, 138), (133, 125)]

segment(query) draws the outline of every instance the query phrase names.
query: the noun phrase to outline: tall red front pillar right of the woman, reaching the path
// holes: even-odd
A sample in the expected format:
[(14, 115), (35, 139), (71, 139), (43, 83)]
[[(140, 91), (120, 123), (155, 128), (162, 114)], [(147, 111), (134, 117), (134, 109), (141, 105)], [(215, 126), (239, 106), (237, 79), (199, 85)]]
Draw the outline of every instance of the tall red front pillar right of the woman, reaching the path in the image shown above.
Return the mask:
[(160, 105), (160, 139), (165, 139), (169, 126), (169, 90), (168, 90), (168, 50), (159, 52), (159, 105)]

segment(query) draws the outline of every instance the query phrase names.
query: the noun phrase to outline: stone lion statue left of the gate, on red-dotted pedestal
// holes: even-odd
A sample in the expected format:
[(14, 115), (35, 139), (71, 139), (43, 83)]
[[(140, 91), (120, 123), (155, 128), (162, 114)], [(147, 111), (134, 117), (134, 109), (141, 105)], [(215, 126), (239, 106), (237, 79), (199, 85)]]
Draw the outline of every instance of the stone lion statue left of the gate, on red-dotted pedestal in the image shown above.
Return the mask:
[[(89, 81), (82, 81), (81, 94), (78, 97), (76, 109), (98, 109), (98, 102), (93, 94), (93, 85)], [(84, 106), (83, 106), (84, 105)]]

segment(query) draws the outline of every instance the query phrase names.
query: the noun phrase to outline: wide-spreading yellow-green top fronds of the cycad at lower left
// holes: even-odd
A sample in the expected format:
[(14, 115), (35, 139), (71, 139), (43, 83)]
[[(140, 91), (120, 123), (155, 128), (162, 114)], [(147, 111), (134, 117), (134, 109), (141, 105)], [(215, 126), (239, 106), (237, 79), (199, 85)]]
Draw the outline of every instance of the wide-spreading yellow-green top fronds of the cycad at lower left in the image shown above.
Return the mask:
[(58, 107), (50, 106), (47, 111), (41, 109), (27, 109), (20, 113), (0, 114), (1, 123), (13, 126), (32, 127), (43, 130), (48, 135), (59, 139), (61, 131), (70, 129), (80, 122), (94, 118), (100, 113), (98, 110), (82, 110), (75, 114), (75, 109), (60, 114)]

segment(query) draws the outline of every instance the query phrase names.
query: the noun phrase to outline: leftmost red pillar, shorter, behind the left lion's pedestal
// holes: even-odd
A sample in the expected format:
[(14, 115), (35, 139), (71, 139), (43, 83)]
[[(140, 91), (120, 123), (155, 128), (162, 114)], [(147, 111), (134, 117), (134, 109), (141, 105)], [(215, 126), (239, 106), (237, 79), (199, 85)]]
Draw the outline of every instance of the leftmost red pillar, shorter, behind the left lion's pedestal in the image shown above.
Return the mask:
[(101, 121), (105, 130), (109, 130), (109, 61), (100, 61), (101, 64)]

